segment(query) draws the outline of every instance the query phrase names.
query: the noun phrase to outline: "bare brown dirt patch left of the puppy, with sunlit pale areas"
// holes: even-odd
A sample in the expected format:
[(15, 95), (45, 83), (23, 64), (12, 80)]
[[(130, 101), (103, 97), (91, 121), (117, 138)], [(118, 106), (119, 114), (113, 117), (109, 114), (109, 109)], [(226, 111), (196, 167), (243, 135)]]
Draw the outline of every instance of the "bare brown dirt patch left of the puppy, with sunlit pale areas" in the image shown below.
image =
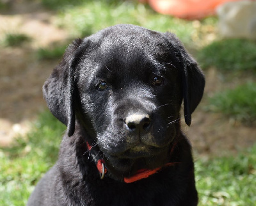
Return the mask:
[(67, 39), (54, 24), (54, 15), (38, 3), (17, 1), (0, 15), (0, 38), (6, 33), (31, 37), (22, 47), (0, 47), (0, 145), (29, 131), (31, 120), (45, 108), (42, 85), (58, 60), (40, 61), (35, 51)]

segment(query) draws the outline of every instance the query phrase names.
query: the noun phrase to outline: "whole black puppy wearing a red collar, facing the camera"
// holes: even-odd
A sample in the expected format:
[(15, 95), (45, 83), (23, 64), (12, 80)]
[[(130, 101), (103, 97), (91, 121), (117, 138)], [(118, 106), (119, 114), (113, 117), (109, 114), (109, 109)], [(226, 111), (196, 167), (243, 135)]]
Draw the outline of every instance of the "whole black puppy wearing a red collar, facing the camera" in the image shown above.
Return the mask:
[(190, 125), (204, 85), (172, 33), (117, 25), (75, 40), (44, 84), (67, 134), (28, 205), (196, 205), (180, 107)]

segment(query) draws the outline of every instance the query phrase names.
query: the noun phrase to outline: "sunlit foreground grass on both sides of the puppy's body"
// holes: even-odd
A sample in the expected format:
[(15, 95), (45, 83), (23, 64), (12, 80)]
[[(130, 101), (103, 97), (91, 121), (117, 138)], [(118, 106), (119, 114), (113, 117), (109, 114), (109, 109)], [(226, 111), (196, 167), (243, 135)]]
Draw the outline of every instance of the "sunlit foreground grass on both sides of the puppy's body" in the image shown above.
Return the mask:
[[(58, 157), (65, 126), (42, 113), (26, 138), (0, 149), (0, 205), (25, 205), (36, 182)], [(235, 157), (195, 162), (200, 205), (253, 205), (256, 202), (256, 145)]]

